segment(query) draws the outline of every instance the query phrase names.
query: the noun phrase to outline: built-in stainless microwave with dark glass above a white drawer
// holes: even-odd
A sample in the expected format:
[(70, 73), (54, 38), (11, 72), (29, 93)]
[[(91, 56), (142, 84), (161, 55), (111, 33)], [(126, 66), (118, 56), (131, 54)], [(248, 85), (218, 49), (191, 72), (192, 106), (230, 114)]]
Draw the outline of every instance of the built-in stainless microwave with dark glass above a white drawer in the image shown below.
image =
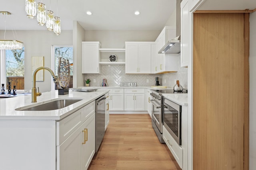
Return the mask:
[(164, 98), (164, 127), (175, 141), (181, 145), (182, 106)]

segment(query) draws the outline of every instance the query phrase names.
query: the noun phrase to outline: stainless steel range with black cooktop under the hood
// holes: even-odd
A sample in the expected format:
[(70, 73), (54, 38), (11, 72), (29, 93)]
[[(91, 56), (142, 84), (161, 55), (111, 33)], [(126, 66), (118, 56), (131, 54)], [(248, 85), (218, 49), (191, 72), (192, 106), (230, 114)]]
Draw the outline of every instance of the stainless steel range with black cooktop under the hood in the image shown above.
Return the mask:
[(162, 94), (182, 94), (188, 93), (187, 90), (182, 92), (174, 92), (172, 89), (164, 90), (152, 90), (150, 94), (152, 100), (150, 102), (153, 104), (153, 113), (152, 113), (152, 127), (156, 132), (156, 135), (161, 143), (165, 143), (162, 138), (162, 127), (163, 127), (163, 117), (164, 117), (164, 96)]

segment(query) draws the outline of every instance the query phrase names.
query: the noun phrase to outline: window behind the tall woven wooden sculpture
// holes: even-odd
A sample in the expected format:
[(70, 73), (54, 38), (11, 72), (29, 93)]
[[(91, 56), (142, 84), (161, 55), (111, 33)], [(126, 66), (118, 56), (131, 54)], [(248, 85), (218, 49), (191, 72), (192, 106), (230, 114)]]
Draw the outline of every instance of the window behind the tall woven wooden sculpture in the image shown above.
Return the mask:
[[(70, 64), (70, 81), (68, 88), (73, 87), (73, 47), (72, 46), (53, 46), (53, 66), (54, 74), (58, 76), (59, 58), (68, 59)], [(58, 83), (55, 84), (55, 89), (61, 88)]]

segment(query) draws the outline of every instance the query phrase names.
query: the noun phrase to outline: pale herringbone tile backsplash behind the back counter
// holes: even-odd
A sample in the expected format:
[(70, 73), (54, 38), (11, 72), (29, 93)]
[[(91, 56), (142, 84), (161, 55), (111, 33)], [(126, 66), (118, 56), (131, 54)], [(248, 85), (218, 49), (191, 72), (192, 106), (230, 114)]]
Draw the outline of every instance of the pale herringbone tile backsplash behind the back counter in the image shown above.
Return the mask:
[[(120, 82), (137, 82), (137, 86), (154, 86), (156, 77), (159, 77), (162, 86), (173, 87), (174, 82), (180, 80), (183, 88), (187, 88), (186, 68), (180, 68), (176, 73), (167, 74), (125, 74), (125, 65), (101, 65), (101, 74), (84, 74), (85, 80), (90, 78), (90, 86), (100, 86), (104, 78), (107, 79), (108, 86), (120, 86)], [(96, 82), (93, 82), (94, 79)]]

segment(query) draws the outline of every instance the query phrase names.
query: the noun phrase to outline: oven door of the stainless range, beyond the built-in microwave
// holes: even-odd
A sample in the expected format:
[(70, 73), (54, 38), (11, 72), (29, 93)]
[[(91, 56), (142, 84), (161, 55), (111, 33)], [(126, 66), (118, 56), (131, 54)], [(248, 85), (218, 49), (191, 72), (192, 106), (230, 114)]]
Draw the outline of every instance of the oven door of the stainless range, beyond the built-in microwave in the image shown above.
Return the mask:
[(162, 133), (162, 107), (159, 102), (156, 100), (150, 100), (150, 102), (153, 105), (153, 111), (152, 111), (152, 121), (156, 124), (158, 130), (160, 133)]

